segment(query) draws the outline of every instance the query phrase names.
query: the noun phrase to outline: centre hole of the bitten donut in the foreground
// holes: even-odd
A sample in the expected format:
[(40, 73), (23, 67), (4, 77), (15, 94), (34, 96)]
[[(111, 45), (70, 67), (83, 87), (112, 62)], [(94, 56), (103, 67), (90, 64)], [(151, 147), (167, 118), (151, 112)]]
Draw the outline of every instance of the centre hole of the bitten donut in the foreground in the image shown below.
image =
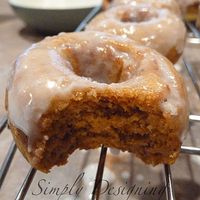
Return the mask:
[[(89, 48), (88, 48), (89, 49)], [(73, 70), (76, 75), (86, 77), (99, 83), (120, 83), (126, 81), (125, 60), (122, 52), (116, 52), (112, 47), (97, 47), (78, 52), (76, 56), (76, 65)]]

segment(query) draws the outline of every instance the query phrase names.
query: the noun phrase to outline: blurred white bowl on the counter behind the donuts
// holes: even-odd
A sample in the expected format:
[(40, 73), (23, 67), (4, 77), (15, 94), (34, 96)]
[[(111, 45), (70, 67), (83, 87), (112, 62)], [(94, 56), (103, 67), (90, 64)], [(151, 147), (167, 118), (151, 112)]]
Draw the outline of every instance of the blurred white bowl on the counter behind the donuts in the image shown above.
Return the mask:
[(73, 31), (102, 0), (9, 0), (30, 27), (46, 33)]

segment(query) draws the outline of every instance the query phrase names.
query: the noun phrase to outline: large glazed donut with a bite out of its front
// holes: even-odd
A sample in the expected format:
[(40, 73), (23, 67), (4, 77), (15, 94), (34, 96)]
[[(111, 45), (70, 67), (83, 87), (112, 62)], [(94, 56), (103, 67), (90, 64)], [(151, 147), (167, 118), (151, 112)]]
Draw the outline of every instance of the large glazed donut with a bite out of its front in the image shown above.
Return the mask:
[(17, 59), (7, 96), (16, 144), (44, 172), (101, 144), (145, 163), (173, 163), (188, 123), (185, 86), (171, 62), (101, 32), (34, 44)]

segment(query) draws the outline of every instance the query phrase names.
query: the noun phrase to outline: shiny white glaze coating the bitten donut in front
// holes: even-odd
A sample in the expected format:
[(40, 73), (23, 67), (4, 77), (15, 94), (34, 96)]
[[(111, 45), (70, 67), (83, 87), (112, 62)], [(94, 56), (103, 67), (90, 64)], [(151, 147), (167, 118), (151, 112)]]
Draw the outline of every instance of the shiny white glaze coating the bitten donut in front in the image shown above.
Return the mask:
[[(79, 75), (69, 54), (79, 64)], [(158, 102), (163, 112), (178, 115), (182, 110), (185, 115), (187, 100), (181, 87), (167, 60), (129, 39), (100, 32), (63, 33), (33, 45), (18, 58), (8, 88), (9, 120), (31, 140), (38, 136), (38, 120), (54, 97), (68, 101), (86, 90), (94, 96), (98, 91), (117, 94), (124, 89), (147, 96), (164, 93), (165, 103)]]

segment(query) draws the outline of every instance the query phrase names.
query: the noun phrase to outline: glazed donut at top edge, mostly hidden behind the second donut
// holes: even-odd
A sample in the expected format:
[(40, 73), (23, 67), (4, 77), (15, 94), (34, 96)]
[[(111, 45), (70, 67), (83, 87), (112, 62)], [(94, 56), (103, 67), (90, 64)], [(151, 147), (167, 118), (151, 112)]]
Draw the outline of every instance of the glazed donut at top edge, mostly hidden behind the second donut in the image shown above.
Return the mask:
[(171, 12), (175, 13), (176, 15), (181, 16), (181, 11), (179, 8), (178, 3), (176, 0), (104, 0), (104, 8), (108, 9), (113, 6), (119, 6), (119, 5), (137, 5), (137, 4), (150, 4), (151, 6), (155, 8), (165, 8), (170, 10)]

